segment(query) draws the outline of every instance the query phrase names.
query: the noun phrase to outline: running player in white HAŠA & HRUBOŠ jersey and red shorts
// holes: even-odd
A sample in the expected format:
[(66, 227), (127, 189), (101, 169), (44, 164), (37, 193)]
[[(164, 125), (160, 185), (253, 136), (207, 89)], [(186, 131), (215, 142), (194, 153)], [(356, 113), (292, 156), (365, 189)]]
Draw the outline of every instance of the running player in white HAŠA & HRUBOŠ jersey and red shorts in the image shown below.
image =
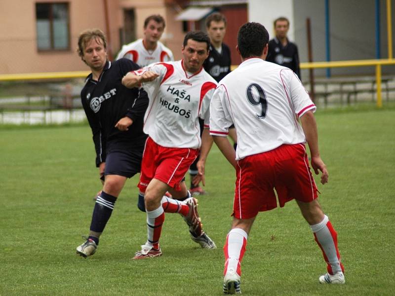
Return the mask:
[[(205, 159), (213, 143), (208, 130), (209, 105), (217, 86), (202, 67), (209, 46), (210, 39), (205, 33), (189, 32), (184, 38), (181, 61), (157, 63), (130, 72), (122, 79), (126, 87), (143, 86), (150, 98), (144, 117), (144, 132), (149, 137), (138, 185), (140, 191), (145, 192), (148, 240), (134, 259), (162, 254), (159, 247), (164, 221), (162, 196), (172, 188), (187, 192), (185, 182), (181, 181), (199, 149), (199, 176), (204, 184)], [(199, 117), (205, 120), (201, 137)], [(192, 239), (204, 248), (216, 248), (201, 229), (196, 199), (190, 197), (185, 203), (178, 203), (178, 212), (186, 218)]]

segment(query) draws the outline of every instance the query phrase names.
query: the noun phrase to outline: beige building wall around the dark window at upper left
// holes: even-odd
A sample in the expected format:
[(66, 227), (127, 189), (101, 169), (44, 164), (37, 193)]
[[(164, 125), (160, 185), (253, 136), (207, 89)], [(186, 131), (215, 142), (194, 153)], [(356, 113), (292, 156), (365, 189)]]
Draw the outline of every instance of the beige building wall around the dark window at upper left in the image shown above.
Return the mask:
[[(70, 49), (38, 51), (36, 2), (68, 2), (70, 16)], [(166, 28), (161, 41), (181, 58), (184, 37), (181, 22), (175, 21), (176, 10), (164, 0), (107, 0), (109, 14), (109, 51), (113, 57), (121, 45), (119, 29), (123, 27), (123, 8), (134, 8), (137, 37), (143, 37), (144, 19), (161, 14)], [(87, 70), (76, 53), (79, 33), (99, 28), (108, 35), (104, 0), (0, 0), (0, 74), (64, 72)]]

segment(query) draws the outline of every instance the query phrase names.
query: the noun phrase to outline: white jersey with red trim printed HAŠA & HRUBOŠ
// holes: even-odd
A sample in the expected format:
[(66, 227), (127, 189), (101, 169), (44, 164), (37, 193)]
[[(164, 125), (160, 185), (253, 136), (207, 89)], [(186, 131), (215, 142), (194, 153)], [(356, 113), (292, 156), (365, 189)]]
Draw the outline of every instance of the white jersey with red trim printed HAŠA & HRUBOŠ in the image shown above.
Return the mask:
[(159, 76), (142, 85), (150, 98), (144, 132), (163, 147), (200, 148), (198, 117), (208, 128), (210, 100), (217, 81), (203, 68), (197, 74), (186, 72), (182, 60), (157, 63), (134, 73), (141, 75), (148, 70)]

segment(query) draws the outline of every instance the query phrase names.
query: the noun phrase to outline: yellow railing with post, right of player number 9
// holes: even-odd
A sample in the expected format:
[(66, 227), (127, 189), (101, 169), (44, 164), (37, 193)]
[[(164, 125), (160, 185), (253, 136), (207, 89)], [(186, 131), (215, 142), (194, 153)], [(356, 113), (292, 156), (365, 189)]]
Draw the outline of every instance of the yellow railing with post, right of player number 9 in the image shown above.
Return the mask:
[(377, 85), (377, 90), (376, 90), (377, 107), (382, 107), (383, 106), (382, 97), (381, 97), (381, 66), (382, 65), (395, 65), (395, 59), (301, 63), (300, 68), (301, 69), (321, 69), (321, 68), (375, 66), (376, 67), (376, 85)]

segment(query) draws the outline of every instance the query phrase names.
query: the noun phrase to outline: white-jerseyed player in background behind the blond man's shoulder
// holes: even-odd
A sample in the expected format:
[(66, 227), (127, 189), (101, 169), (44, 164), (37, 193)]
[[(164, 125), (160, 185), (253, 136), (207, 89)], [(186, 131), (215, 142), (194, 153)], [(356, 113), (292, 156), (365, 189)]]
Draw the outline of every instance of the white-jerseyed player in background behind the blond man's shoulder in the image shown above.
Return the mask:
[(156, 62), (173, 61), (173, 53), (159, 41), (162, 37), (165, 22), (158, 14), (150, 15), (144, 21), (144, 38), (125, 44), (119, 51), (117, 60), (126, 58), (140, 67)]

